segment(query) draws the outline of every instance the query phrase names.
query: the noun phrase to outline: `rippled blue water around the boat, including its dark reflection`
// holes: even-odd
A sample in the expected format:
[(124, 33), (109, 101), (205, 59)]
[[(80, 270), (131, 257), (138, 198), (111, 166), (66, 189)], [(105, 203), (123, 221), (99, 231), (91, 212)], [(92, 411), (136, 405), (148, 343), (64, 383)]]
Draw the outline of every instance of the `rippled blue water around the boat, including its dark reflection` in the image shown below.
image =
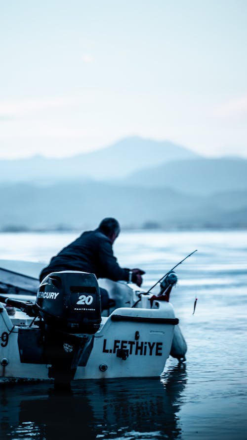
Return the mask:
[[(0, 258), (46, 262), (76, 234), (2, 234)], [(188, 344), (161, 380), (0, 387), (0, 439), (247, 439), (247, 234), (123, 232), (115, 254), (150, 288), (184, 256), (171, 302)], [(192, 315), (195, 297), (196, 312)]]

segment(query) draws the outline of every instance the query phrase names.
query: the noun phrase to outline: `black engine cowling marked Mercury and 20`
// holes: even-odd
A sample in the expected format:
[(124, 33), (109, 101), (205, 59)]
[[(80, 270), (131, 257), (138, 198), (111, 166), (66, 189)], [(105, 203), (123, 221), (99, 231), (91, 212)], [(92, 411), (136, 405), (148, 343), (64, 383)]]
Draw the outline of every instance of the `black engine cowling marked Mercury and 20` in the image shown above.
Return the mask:
[(94, 334), (101, 322), (101, 302), (94, 274), (52, 272), (41, 282), (36, 306), (45, 324), (69, 333)]

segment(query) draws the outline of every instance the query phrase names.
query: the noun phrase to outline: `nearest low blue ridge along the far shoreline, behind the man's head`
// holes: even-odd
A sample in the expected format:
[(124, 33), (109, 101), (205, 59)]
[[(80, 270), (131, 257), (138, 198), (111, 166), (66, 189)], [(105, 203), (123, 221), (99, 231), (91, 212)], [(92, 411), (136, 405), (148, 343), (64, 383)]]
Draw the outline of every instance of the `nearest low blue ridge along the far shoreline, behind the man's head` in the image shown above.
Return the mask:
[[(231, 209), (231, 200), (238, 198), (239, 203)], [(95, 227), (106, 216), (118, 218), (123, 227), (134, 228), (247, 227), (244, 195), (235, 193), (226, 199), (226, 194), (191, 196), (171, 189), (102, 182), (50, 187), (1, 185), (0, 229), (85, 229)]]

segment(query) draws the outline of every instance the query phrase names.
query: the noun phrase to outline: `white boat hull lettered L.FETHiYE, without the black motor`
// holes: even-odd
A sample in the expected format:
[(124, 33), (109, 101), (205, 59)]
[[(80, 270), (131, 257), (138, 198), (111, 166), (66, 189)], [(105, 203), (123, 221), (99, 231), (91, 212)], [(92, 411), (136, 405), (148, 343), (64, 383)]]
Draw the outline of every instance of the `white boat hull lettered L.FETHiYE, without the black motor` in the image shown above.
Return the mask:
[[(12, 322), (5, 308), (0, 307), (0, 375), (48, 379), (51, 365), (42, 361), (39, 327), (29, 327), (31, 318), (20, 318), (19, 324), (17, 321), (15, 317)], [(115, 309), (109, 317), (102, 318), (100, 329), (92, 336), (90, 353), (82, 355), (74, 379), (159, 376), (169, 356), (177, 322), (172, 305), (166, 302), (154, 310)], [(73, 349), (71, 344), (70, 350)], [(66, 355), (65, 351), (65, 358)]]

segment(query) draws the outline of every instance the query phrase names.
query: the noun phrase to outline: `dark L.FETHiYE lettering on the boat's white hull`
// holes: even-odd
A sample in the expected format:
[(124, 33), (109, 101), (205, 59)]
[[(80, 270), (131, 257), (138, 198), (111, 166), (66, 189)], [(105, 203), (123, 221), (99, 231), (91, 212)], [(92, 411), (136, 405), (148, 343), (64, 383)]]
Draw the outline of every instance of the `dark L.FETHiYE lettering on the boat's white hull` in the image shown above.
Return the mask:
[(128, 354), (139, 356), (162, 356), (163, 342), (120, 341), (116, 339), (113, 346), (107, 347), (107, 340), (103, 341), (103, 353), (116, 353), (118, 348), (128, 350)]

